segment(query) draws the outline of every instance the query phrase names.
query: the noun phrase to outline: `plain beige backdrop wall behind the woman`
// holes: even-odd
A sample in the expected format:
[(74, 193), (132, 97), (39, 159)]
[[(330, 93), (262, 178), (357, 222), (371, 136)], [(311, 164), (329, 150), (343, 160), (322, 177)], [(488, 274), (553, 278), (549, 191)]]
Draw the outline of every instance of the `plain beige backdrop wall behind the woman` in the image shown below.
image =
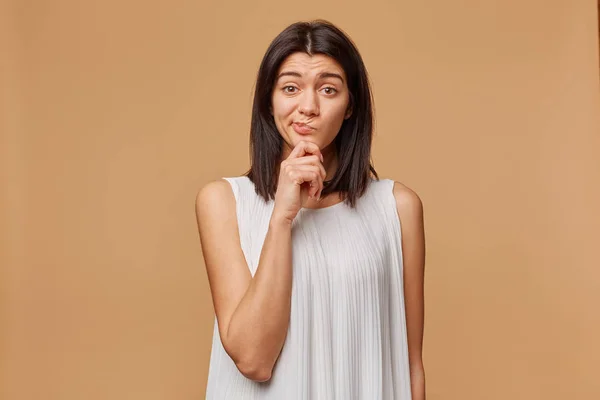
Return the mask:
[(428, 399), (600, 398), (595, 1), (0, 7), (0, 398), (204, 398), (195, 194), (248, 167), (262, 55), (317, 17), (425, 205)]

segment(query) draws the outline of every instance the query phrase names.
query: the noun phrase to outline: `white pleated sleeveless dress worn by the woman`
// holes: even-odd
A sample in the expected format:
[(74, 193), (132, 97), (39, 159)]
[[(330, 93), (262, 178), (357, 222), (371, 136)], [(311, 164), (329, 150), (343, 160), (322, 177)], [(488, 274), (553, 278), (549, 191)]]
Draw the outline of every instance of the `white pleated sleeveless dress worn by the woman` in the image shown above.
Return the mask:
[[(256, 273), (274, 201), (246, 176), (232, 187), (240, 241)], [(300, 209), (292, 223), (292, 297), (271, 379), (242, 375), (214, 320), (208, 400), (410, 400), (400, 219), (394, 181), (371, 179), (345, 202)]]

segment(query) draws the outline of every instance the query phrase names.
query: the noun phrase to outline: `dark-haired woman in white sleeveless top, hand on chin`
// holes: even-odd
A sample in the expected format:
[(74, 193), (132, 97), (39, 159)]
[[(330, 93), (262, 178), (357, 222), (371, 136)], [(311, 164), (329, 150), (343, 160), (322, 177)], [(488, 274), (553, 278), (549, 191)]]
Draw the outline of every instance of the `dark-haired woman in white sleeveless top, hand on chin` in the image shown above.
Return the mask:
[(273, 40), (250, 170), (196, 198), (216, 315), (208, 399), (425, 399), (422, 204), (379, 180), (372, 125), (341, 30), (300, 22)]

